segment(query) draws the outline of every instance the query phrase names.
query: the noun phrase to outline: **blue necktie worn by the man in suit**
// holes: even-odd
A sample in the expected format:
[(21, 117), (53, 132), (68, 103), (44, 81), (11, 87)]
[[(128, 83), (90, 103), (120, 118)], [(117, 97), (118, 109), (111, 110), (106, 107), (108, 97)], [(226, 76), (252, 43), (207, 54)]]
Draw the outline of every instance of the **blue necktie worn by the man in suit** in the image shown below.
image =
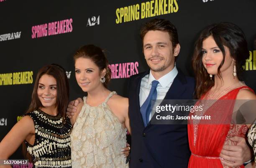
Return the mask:
[(142, 115), (142, 119), (143, 119), (143, 123), (144, 123), (145, 127), (148, 125), (149, 115), (154, 106), (154, 104), (151, 105), (151, 100), (156, 100), (156, 96), (157, 96), (156, 87), (158, 84), (159, 84), (158, 81), (156, 81), (156, 80), (152, 81), (152, 87), (150, 89), (148, 97), (147, 97), (146, 101), (141, 106), (141, 115)]

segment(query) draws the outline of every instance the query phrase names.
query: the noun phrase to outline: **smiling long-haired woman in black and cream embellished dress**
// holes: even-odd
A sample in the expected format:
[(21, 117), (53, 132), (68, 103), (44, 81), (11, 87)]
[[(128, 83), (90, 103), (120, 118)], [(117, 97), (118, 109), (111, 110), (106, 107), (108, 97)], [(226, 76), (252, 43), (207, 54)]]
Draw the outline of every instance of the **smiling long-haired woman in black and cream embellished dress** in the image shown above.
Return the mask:
[(65, 116), (68, 100), (64, 69), (56, 64), (41, 68), (27, 113), (0, 143), (0, 159), (8, 159), (25, 141), (26, 155), (36, 168), (71, 167), (72, 125)]

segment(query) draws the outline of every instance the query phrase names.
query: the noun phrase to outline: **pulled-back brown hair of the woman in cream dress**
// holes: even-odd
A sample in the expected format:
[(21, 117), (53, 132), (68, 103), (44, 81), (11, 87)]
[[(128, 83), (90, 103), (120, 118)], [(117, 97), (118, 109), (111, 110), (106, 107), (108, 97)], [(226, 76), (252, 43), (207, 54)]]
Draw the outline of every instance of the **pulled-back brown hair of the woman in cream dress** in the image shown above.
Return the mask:
[(111, 72), (108, 67), (108, 59), (102, 52), (102, 49), (93, 44), (84, 45), (74, 54), (74, 62), (76, 62), (76, 60), (80, 57), (92, 60), (92, 62), (97, 65), (100, 71), (102, 71), (103, 69), (107, 70), (105, 74), (105, 82), (103, 83), (103, 85), (107, 87), (111, 79)]

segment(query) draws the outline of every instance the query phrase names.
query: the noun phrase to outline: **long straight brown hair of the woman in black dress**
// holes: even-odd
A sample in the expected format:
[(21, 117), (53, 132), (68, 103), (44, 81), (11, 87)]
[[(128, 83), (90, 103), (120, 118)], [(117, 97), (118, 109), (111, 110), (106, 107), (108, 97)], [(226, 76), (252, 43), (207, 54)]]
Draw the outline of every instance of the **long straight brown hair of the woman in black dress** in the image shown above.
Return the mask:
[[(62, 117), (66, 116), (66, 109), (69, 101), (69, 82), (67, 79), (66, 71), (58, 64), (51, 64), (45, 67), (42, 67), (36, 76), (35, 84), (33, 87), (33, 92), (31, 96), (31, 104), (28, 107), (26, 113), (30, 113), (32, 111), (37, 110), (39, 107), (42, 107), (41, 101), (37, 95), (38, 82), (39, 79), (44, 75), (51, 75), (56, 79), (57, 82), (57, 98), (56, 98), (56, 106), (58, 114), (61, 114)], [(22, 144), (23, 155), (32, 162), (31, 155), (26, 150), (26, 144), (23, 142)]]

